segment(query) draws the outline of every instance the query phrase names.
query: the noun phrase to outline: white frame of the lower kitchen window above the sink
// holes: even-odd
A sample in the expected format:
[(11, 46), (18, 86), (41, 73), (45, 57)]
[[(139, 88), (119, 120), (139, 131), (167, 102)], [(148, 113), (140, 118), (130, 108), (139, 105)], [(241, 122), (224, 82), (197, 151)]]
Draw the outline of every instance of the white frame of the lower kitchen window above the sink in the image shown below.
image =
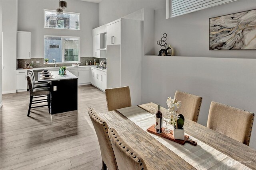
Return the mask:
[[(61, 49), (61, 63), (81, 63), (81, 42), (80, 42), (80, 37), (74, 37), (74, 36), (64, 36), (64, 35), (44, 35), (44, 40), (45, 37), (61, 37), (61, 43), (62, 43), (62, 49)], [(78, 38), (79, 41), (79, 49), (78, 49), (78, 61), (64, 61), (64, 41), (63, 38)], [(44, 57), (45, 57), (45, 51), (44, 51)], [(45, 59), (45, 58), (44, 58)], [(58, 62), (60, 63), (60, 62)]]

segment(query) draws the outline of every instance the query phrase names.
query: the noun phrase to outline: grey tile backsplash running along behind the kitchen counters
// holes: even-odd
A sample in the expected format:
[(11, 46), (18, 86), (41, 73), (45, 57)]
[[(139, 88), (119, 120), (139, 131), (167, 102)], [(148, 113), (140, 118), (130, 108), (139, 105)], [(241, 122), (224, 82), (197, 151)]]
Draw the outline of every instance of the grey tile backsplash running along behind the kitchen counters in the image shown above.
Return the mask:
[[(99, 58), (94, 58), (94, 57), (81, 57), (81, 63), (80, 66), (85, 66), (85, 62), (88, 61), (88, 63), (90, 61), (92, 61), (92, 65), (94, 62), (94, 59), (96, 59), (96, 63), (100, 63), (100, 61), (103, 61), (106, 59), (99, 59)], [(44, 64), (44, 58), (31, 58), (31, 59), (17, 59), (18, 60), (18, 68), (24, 68), (25, 67), (25, 63), (32, 63), (31, 61), (34, 62), (33, 67), (54, 67), (54, 63), (48, 63), (48, 64)], [(36, 61), (39, 61), (39, 64), (36, 64)], [(52, 61), (51, 61), (52, 62)], [(59, 66), (72, 66), (71, 63), (62, 63), (62, 64), (57, 64), (56, 67)]]

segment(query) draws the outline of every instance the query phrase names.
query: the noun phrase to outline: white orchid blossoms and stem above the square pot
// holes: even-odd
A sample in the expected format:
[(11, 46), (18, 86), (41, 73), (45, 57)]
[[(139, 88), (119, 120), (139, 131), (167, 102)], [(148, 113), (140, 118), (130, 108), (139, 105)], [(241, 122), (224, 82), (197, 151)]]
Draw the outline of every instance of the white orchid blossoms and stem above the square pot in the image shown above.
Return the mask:
[(167, 99), (166, 104), (168, 106), (168, 112), (171, 113), (171, 121), (170, 124), (177, 126), (177, 119), (179, 119), (179, 115), (176, 112), (178, 110), (178, 108), (180, 108), (181, 106), (181, 102), (177, 102), (176, 99), (172, 99), (171, 97)]

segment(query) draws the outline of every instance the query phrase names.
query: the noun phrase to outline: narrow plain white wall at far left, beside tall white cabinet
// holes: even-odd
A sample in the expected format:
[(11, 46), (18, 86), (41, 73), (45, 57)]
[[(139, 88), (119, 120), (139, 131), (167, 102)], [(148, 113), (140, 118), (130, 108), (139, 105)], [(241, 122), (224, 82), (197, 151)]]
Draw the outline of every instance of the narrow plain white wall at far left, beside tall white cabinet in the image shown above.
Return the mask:
[(2, 93), (16, 92), (16, 41), (18, 1), (2, 0)]

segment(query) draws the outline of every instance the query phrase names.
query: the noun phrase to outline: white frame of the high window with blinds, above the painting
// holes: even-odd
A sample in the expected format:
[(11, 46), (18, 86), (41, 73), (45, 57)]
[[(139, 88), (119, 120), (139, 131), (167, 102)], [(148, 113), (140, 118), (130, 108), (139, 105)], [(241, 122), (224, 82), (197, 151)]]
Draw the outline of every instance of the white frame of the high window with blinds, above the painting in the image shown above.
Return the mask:
[[(172, 0), (166, 0), (166, 19), (173, 18), (173, 17), (176, 17), (176, 16), (181, 16), (181, 15), (184, 15), (184, 14), (189, 14), (191, 12), (196, 12), (196, 11), (199, 11), (199, 10), (204, 10), (206, 8), (211, 8), (211, 7), (214, 7), (214, 6), (218, 6), (218, 5), (222, 5), (222, 4), (226, 4), (226, 3), (234, 2), (234, 1), (236, 1), (236, 0), (223, 0), (223, 1), (220, 1), (219, 3), (216, 2), (216, 4), (202, 5), (202, 7), (196, 8), (194, 10), (191, 10), (191, 11), (188, 11), (188, 12), (184, 12), (184, 13), (172, 16)], [(186, 2), (186, 1), (184, 1), (184, 2)]]

